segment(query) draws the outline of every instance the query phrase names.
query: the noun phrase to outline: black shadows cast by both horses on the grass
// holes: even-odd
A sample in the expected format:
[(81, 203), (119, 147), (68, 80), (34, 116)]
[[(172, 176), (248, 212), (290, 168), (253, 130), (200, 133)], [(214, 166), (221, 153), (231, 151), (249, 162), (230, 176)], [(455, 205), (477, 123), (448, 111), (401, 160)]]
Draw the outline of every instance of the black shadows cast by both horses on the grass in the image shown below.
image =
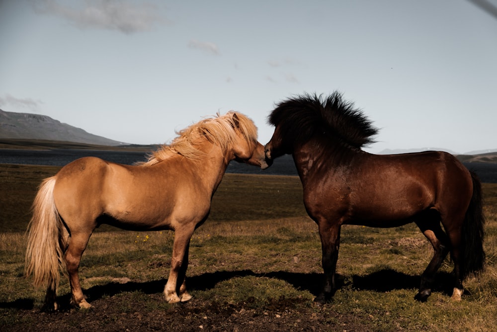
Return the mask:
[[(237, 277), (266, 277), (286, 281), (295, 289), (308, 291), (313, 295), (318, 295), (323, 285), (322, 273), (296, 273), (287, 271), (276, 271), (269, 273), (255, 273), (252, 270), (238, 271), (217, 271), (204, 273), (198, 276), (187, 277), (189, 290), (206, 291), (216, 287), (220, 282)], [(336, 288), (365, 290), (374, 292), (390, 292), (400, 289), (416, 289), (420, 284), (420, 276), (408, 275), (392, 269), (382, 269), (367, 275), (343, 276), (337, 274), (335, 277)], [(88, 298), (88, 302), (96, 301), (107, 296), (114, 296), (119, 293), (140, 291), (145, 294), (157, 294), (164, 290), (167, 279), (152, 280), (146, 282), (127, 282), (124, 284), (109, 282), (104, 285), (97, 285), (83, 290)], [(441, 292), (450, 296), (452, 293), (453, 277), (447, 272), (438, 272), (435, 275), (434, 292)], [(413, 294), (413, 298), (414, 298)], [(58, 297), (61, 310), (68, 310), (71, 294)], [(12, 302), (0, 302), (0, 308), (10, 308), (19, 310), (32, 310), (35, 301), (33, 299), (17, 299)]]

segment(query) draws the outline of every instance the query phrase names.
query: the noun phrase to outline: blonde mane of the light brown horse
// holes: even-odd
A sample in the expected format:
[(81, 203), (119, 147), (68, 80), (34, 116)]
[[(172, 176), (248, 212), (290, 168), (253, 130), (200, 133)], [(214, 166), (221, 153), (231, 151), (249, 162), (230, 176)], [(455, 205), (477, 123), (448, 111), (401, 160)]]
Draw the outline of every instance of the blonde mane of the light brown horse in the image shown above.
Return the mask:
[(257, 127), (247, 116), (235, 111), (224, 115), (218, 113), (215, 117), (205, 118), (176, 132), (178, 137), (171, 144), (162, 145), (150, 155), (148, 161), (140, 165), (155, 165), (177, 154), (190, 160), (199, 160), (205, 153), (198, 150), (196, 145), (206, 140), (226, 151), (235, 141), (237, 131), (245, 136), (247, 143), (257, 142)]

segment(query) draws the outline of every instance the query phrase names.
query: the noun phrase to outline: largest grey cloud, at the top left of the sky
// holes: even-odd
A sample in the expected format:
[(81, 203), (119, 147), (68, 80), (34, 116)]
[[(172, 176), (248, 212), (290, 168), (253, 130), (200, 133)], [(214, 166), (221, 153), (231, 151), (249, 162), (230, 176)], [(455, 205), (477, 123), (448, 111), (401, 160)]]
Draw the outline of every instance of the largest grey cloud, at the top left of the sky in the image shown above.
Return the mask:
[(148, 3), (85, 0), (82, 8), (69, 7), (56, 0), (32, 3), (36, 13), (65, 18), (80, 28), (117, 30), (131, 34), (151, 30), (156, 22), (164, 22), (164, 19), (156, 14), (157, 7)]

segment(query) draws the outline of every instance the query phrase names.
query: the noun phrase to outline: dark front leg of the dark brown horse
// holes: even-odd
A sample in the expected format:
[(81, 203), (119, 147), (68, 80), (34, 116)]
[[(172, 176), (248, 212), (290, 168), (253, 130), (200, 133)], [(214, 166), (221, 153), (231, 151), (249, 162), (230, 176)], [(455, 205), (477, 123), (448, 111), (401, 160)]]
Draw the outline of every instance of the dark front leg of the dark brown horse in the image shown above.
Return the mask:
[(338, 248), (340, 246), (340, 224), (329, 225), (327, 221), (318, 222), (319, 235), (321, 237), (321, 249), (323, 251), (323, 271), (325, 282), (323, 290), (314, 299), (314, 302), (322, 305), (333, 297), (335, 288), (336, 260), (338, 259)]

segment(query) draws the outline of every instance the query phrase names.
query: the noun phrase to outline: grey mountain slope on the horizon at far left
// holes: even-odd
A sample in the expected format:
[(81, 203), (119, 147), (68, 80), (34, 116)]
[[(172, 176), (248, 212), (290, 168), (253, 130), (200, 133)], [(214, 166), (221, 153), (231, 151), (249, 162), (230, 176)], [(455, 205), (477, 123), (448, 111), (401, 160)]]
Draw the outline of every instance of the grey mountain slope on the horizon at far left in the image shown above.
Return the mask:
[(98, 145), (127, 144), (97, 136), (50, 116), (0, 110), (0, 138), (46, 139)]

